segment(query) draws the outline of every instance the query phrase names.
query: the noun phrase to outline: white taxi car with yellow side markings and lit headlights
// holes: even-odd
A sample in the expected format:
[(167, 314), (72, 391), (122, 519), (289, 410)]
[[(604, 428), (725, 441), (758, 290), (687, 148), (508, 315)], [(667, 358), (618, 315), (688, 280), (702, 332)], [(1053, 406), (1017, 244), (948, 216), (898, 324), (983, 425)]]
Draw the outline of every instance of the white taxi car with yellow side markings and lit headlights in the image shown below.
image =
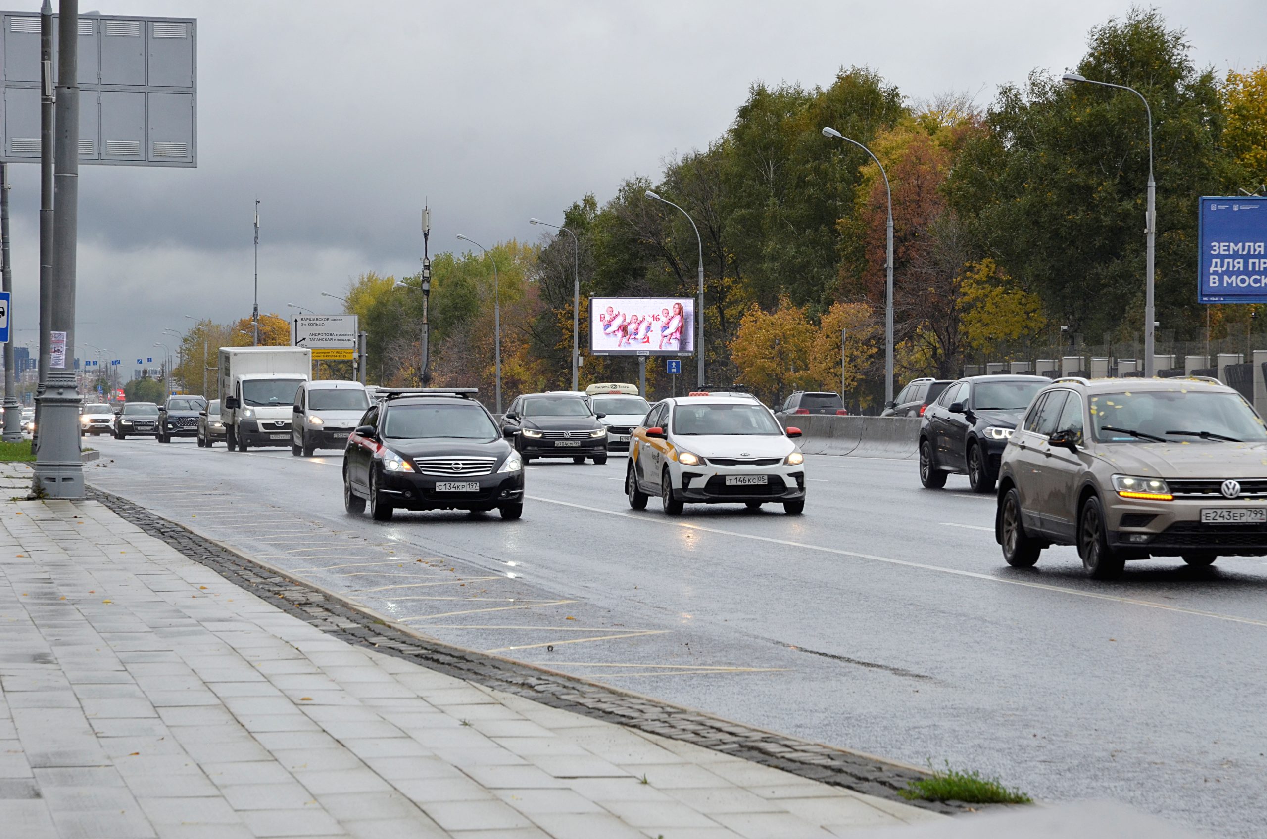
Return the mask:
[(684, 503), (782, 503), (805, 509), (805, 455), (770, 409), (746, 397), (677, 397), (653, 406), (634, 428), (625, 492), (642, 509), (659, 496), (664, 512)]

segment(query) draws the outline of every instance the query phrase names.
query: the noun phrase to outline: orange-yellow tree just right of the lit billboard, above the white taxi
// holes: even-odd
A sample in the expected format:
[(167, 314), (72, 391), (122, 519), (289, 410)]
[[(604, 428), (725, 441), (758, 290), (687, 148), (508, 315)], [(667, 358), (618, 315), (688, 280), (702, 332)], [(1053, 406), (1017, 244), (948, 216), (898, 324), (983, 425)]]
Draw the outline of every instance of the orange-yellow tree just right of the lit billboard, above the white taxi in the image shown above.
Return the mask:
[(815, 328), (806, 311), (782, 295), (774, 312), (764, 312), (754, 303), (744, 313), (730, 343), (730, 357), (740, 381), (770, 404), (779, 395), (812, 384), (810, 349), (813, 337)]

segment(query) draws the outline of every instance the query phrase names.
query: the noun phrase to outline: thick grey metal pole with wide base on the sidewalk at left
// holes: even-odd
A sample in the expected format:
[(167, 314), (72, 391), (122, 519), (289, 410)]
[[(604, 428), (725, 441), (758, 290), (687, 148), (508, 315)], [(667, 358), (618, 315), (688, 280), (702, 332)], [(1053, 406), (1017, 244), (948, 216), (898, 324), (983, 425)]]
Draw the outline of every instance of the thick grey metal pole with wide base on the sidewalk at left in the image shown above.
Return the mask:
[(41, 403), (41, 445), (35, 455), (34, 493), (51, 498), (84, 497), (80, 459), (79, 387), (75, 365), (75, 280), (79, 240), (79, 0), (61, 0), (60, 79), (57, 82), (56, 171), (53, 175), (53, 311), (48, 378)]

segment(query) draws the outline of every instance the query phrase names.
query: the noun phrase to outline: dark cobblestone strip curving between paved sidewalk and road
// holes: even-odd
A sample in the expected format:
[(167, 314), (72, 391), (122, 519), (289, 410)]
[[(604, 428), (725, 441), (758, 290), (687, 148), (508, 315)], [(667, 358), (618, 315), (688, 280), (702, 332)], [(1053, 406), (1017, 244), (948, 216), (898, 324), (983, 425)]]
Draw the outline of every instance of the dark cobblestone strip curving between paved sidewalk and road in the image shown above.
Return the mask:
[(907, 801), (897, 795), (924, 773), (878, 758), (731, 722), (699, 711), (625, 693), (473, 650), (449, 646), (384, 624), (371, 613), (295, 578), (275, 573), (119, 496), (89, 488), (87, 497), (241, 588), (350, 644), (372, 646), (438, 673), (533, 700), (595, 720), (731, 754), (803, 778), (944, 814), (979, 807)]

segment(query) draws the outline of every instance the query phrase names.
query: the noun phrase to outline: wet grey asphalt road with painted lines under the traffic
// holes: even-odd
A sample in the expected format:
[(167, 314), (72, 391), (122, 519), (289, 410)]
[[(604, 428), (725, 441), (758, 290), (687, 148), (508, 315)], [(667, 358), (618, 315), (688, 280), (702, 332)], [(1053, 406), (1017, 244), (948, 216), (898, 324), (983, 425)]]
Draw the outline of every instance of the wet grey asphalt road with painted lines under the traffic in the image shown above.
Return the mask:
[(1072, 549), (1010, 569), (993, 499), (910, 461), (808, 458), (806, 513), (625, 502), (623, 458), (530, 466), (523, 518), (343, 513), (337, 452), (89, 444), (89, 483), (422, 632), (1044, 800), (1257, 836), (1267, 563)]

